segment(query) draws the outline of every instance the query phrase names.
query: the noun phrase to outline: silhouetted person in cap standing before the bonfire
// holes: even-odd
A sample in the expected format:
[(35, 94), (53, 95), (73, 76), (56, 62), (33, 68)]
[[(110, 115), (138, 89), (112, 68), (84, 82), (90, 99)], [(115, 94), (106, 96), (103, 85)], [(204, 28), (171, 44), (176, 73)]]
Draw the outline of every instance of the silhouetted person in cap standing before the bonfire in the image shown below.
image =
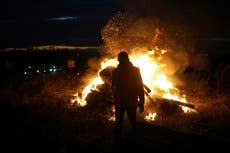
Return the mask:
[(112, 71), (112, 94), (115, 106), (115, 143), (122, 143), (125, 112), (131, 123), (132, 134), (137, 134), (136, 112), (144, 111), (144, 88), (140, 69), (129, 61), (128, 53), (118, 54), (118, 66)]

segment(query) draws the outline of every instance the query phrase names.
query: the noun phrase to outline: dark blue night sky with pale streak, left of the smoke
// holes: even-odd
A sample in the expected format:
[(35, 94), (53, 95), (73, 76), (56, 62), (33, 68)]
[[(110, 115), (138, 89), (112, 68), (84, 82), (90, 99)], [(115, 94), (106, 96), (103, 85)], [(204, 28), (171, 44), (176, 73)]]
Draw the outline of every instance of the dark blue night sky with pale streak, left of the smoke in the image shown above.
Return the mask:
[(0, 5), (1, 47), (98, 45), (117, 11), (111, 0), (9, 0)]

